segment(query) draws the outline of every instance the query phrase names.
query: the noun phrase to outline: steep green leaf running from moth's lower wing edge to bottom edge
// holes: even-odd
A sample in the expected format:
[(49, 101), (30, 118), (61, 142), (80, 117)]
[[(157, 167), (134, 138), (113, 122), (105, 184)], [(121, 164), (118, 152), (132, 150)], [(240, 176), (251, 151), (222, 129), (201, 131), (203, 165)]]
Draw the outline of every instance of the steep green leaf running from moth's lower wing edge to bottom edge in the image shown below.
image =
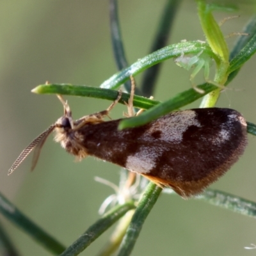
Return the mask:
[(141, 200), (138, 203), (138, 207), (134, 212), (131, 223), (127, 228), (127, 232), (120, 246), (118, 256), (128, 256), (131, 254), (132, 249), (134, 248), (134, 245), (140, 234), (143, 223), (154, 204), (156, 204), (157, 198), (161, 191), (162, 189), (159, 188), (156, 184), (152, 182), (148, 184), (147, 189), (143, 193)]

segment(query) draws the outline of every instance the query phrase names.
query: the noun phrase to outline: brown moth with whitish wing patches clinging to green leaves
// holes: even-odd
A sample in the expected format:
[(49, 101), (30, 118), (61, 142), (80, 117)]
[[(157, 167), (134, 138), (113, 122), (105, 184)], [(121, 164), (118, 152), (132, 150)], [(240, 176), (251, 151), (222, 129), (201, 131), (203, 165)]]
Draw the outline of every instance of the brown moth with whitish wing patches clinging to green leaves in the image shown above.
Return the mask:
[(198, 108), (174, 111), (140, 127), (122, 131), (123, 119), (104, 122), (108, 109), (72, 119), (67, 102), (58, 95), (64, 115), (26, 147), (10, 168), (10, 175), (35, 148), (35, 168), (45, 140), (54, 140), (79, 160), (87, 156), (140, 173), (158, 186), (171, 187), (184, 198), (204, 191), (236, 163), (247, 144), (246, 121), (234, 109)]

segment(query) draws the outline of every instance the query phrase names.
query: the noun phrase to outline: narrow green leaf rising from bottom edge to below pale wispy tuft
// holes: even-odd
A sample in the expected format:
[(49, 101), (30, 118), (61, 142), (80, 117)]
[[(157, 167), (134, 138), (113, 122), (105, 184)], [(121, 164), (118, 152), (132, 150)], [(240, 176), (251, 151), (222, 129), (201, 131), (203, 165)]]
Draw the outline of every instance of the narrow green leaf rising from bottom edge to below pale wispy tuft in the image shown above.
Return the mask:
[(124, 205), (118, 205), (106, 212), (95, 224), (93, 224), (82, 236), (80, 236), (73, 244), (71, 244), (65, 252), (60, 256), (75, 256), (83, 252), (97, 237), (106, 231), (113, 223), (119, 220), (124, 214), (134, 209), (133, 202), (127, 202)]

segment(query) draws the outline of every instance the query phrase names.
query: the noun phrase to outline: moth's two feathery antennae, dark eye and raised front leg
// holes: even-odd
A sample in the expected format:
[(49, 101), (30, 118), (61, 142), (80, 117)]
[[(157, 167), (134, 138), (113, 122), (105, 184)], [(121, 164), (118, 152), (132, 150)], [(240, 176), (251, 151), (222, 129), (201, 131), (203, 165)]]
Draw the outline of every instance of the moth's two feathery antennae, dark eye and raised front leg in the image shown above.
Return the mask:
[(14, 172), (14, 170), (24, 161), (24, 159), (26, 159), (29, 153), (35, 148), (31, 166), (31, 170), (34, 170), (38, 158), (40, 156), (41, 149), (44, 146), (44, 143), (48, 138), (49, 134), (51, 134), (51, 132), (54, 131), (55, 129), (62, 129), (62, 131), (65, 132), (68, 129), (72, 129), (74, 127), (71, 111), (67, 102), (63, 100), (63, 97), (61, 95), (57, 95), (57, 97), (58, 99), (60, 99), (61, 103), (64, 106), (64, 116), (59, 118), (55, 124), (52, 124), (46, 131), (42, 132), (42, 134), (37, 136), (35, 140), (33, 140), (28, 145), (28, 147), (22, 150), (19, 157), (16, 159), (16, 161), (12, 164), (12, 167), (9, 169), (8, 175)]

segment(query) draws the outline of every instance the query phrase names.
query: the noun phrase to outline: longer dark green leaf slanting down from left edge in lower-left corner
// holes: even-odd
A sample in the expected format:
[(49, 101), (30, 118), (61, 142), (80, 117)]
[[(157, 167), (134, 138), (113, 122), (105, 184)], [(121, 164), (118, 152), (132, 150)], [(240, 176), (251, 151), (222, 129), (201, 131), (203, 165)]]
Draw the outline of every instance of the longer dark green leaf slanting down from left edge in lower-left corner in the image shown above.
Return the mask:
[(10, 201), (8, 201), (0, 193), (0, 212), (12, 223), (20, 227), (26, 234), (42, 244), (45, 249), (55, 255), (60, 254), (65, 250), (60, 242), (47, 234), (42, 228), (29, 220), (22, 212), (19, 211)]

